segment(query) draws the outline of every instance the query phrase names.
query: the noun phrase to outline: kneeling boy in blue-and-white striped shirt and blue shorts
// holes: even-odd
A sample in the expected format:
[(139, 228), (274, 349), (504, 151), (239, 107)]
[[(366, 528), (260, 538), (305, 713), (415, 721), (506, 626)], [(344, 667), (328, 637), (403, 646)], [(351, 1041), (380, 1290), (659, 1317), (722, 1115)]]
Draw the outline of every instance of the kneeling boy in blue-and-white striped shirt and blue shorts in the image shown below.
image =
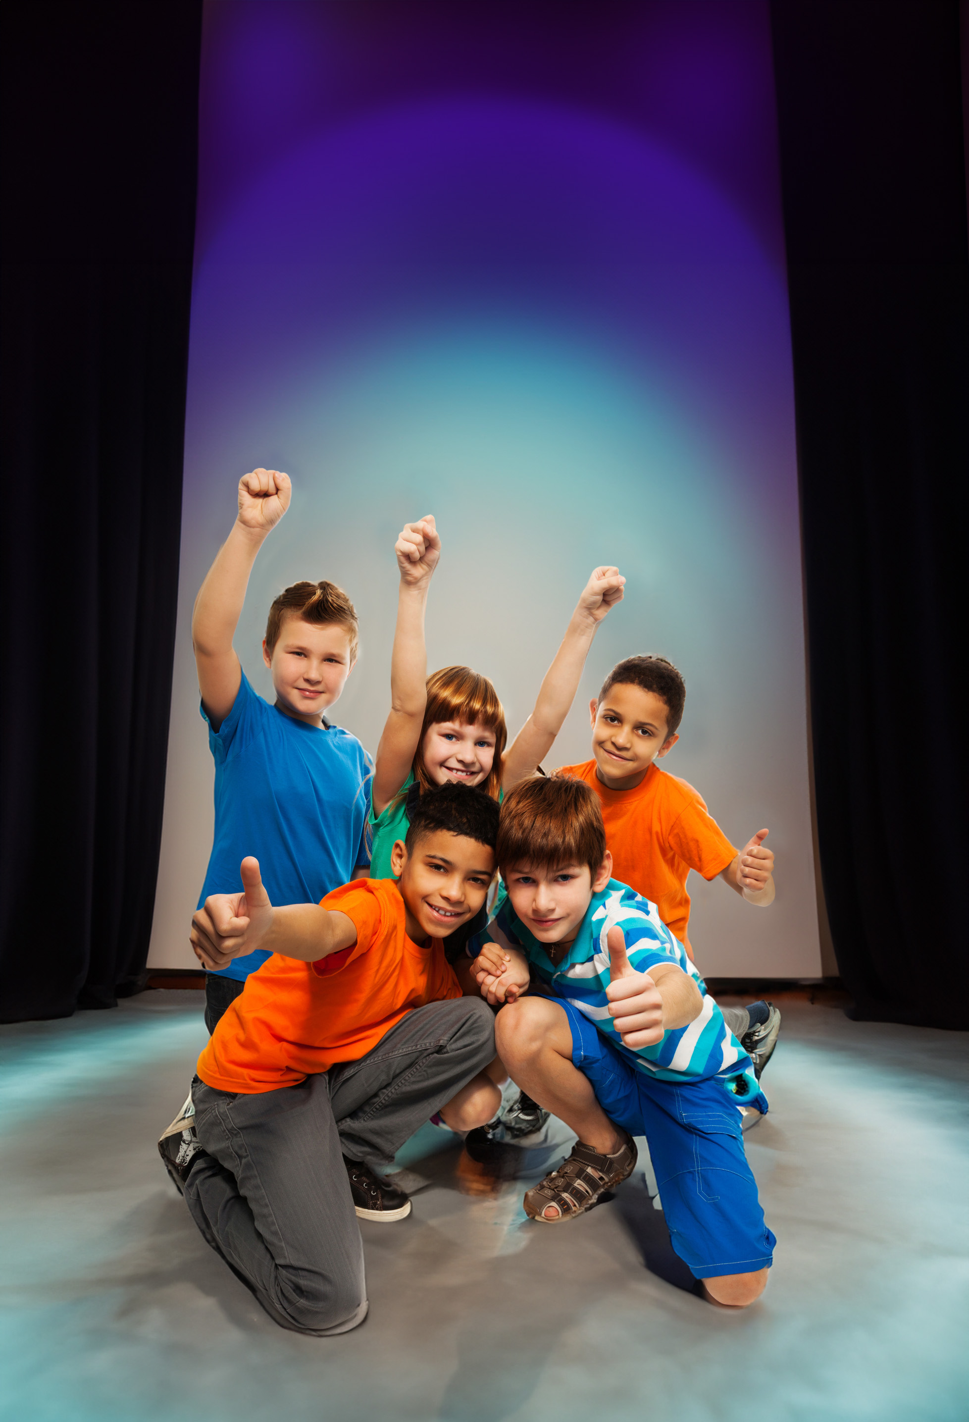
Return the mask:
[(740, 1103), (767, 1111), (750, 1058), (656, 906), (610, 877), (588, 785), (517, 785), (497, 862), (509, 897), (469, 946), (472, 973), (504, 1004), (494, 1037), (511, 1079), (578, 1136), (526, 1214), (588, 1210), (632, 1173), (644, 1135), (673, 1249), (709, 1300), (752, 1304), (774, 1236), (740, 1132)]

